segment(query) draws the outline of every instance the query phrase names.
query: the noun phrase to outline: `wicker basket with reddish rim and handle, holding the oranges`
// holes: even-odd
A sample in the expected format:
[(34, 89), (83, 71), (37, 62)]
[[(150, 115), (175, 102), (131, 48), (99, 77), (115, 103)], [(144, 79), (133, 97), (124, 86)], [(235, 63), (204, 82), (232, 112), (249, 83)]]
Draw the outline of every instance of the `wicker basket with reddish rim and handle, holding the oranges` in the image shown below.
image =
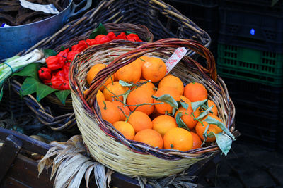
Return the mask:
[[(212, 54), (202, 44), (185, 39), (162, 39), (141, 46), (132, 42), (113, 41), (91, 46), (77, 56), (70, 67), (71, 97), (77, 124), (91, 156), (96, 161), (129, 176), (164, 177), (180, 173), (193, 163), (212, 157), (219, 151), (216, 144), (187, 152), (154, 149), (147, 144), (125, 139), (110, 123), (100, 117), (96, 98), (93, 96), (96, 96), (98, 88), (110, 75), (144, 54), (168, 59), (180, 46), (191, 49), (206, 58), (207, 68), (203, 68), (190, 56), (185, 56), (171, 73), (180, 77), (185, 84), (202, 82), (209, 92), (209, 99), (216, 101), (219, 117), (231, 132), (234, 131), (233, 102), (229, 98), (224, 82), (216, 75)], [(113, 56), (116, 58), (114, 59)], [(101, 62), (108, 62), (108, 67), (98, 73), (88, 92), (83, 94), (89, 68)]]

